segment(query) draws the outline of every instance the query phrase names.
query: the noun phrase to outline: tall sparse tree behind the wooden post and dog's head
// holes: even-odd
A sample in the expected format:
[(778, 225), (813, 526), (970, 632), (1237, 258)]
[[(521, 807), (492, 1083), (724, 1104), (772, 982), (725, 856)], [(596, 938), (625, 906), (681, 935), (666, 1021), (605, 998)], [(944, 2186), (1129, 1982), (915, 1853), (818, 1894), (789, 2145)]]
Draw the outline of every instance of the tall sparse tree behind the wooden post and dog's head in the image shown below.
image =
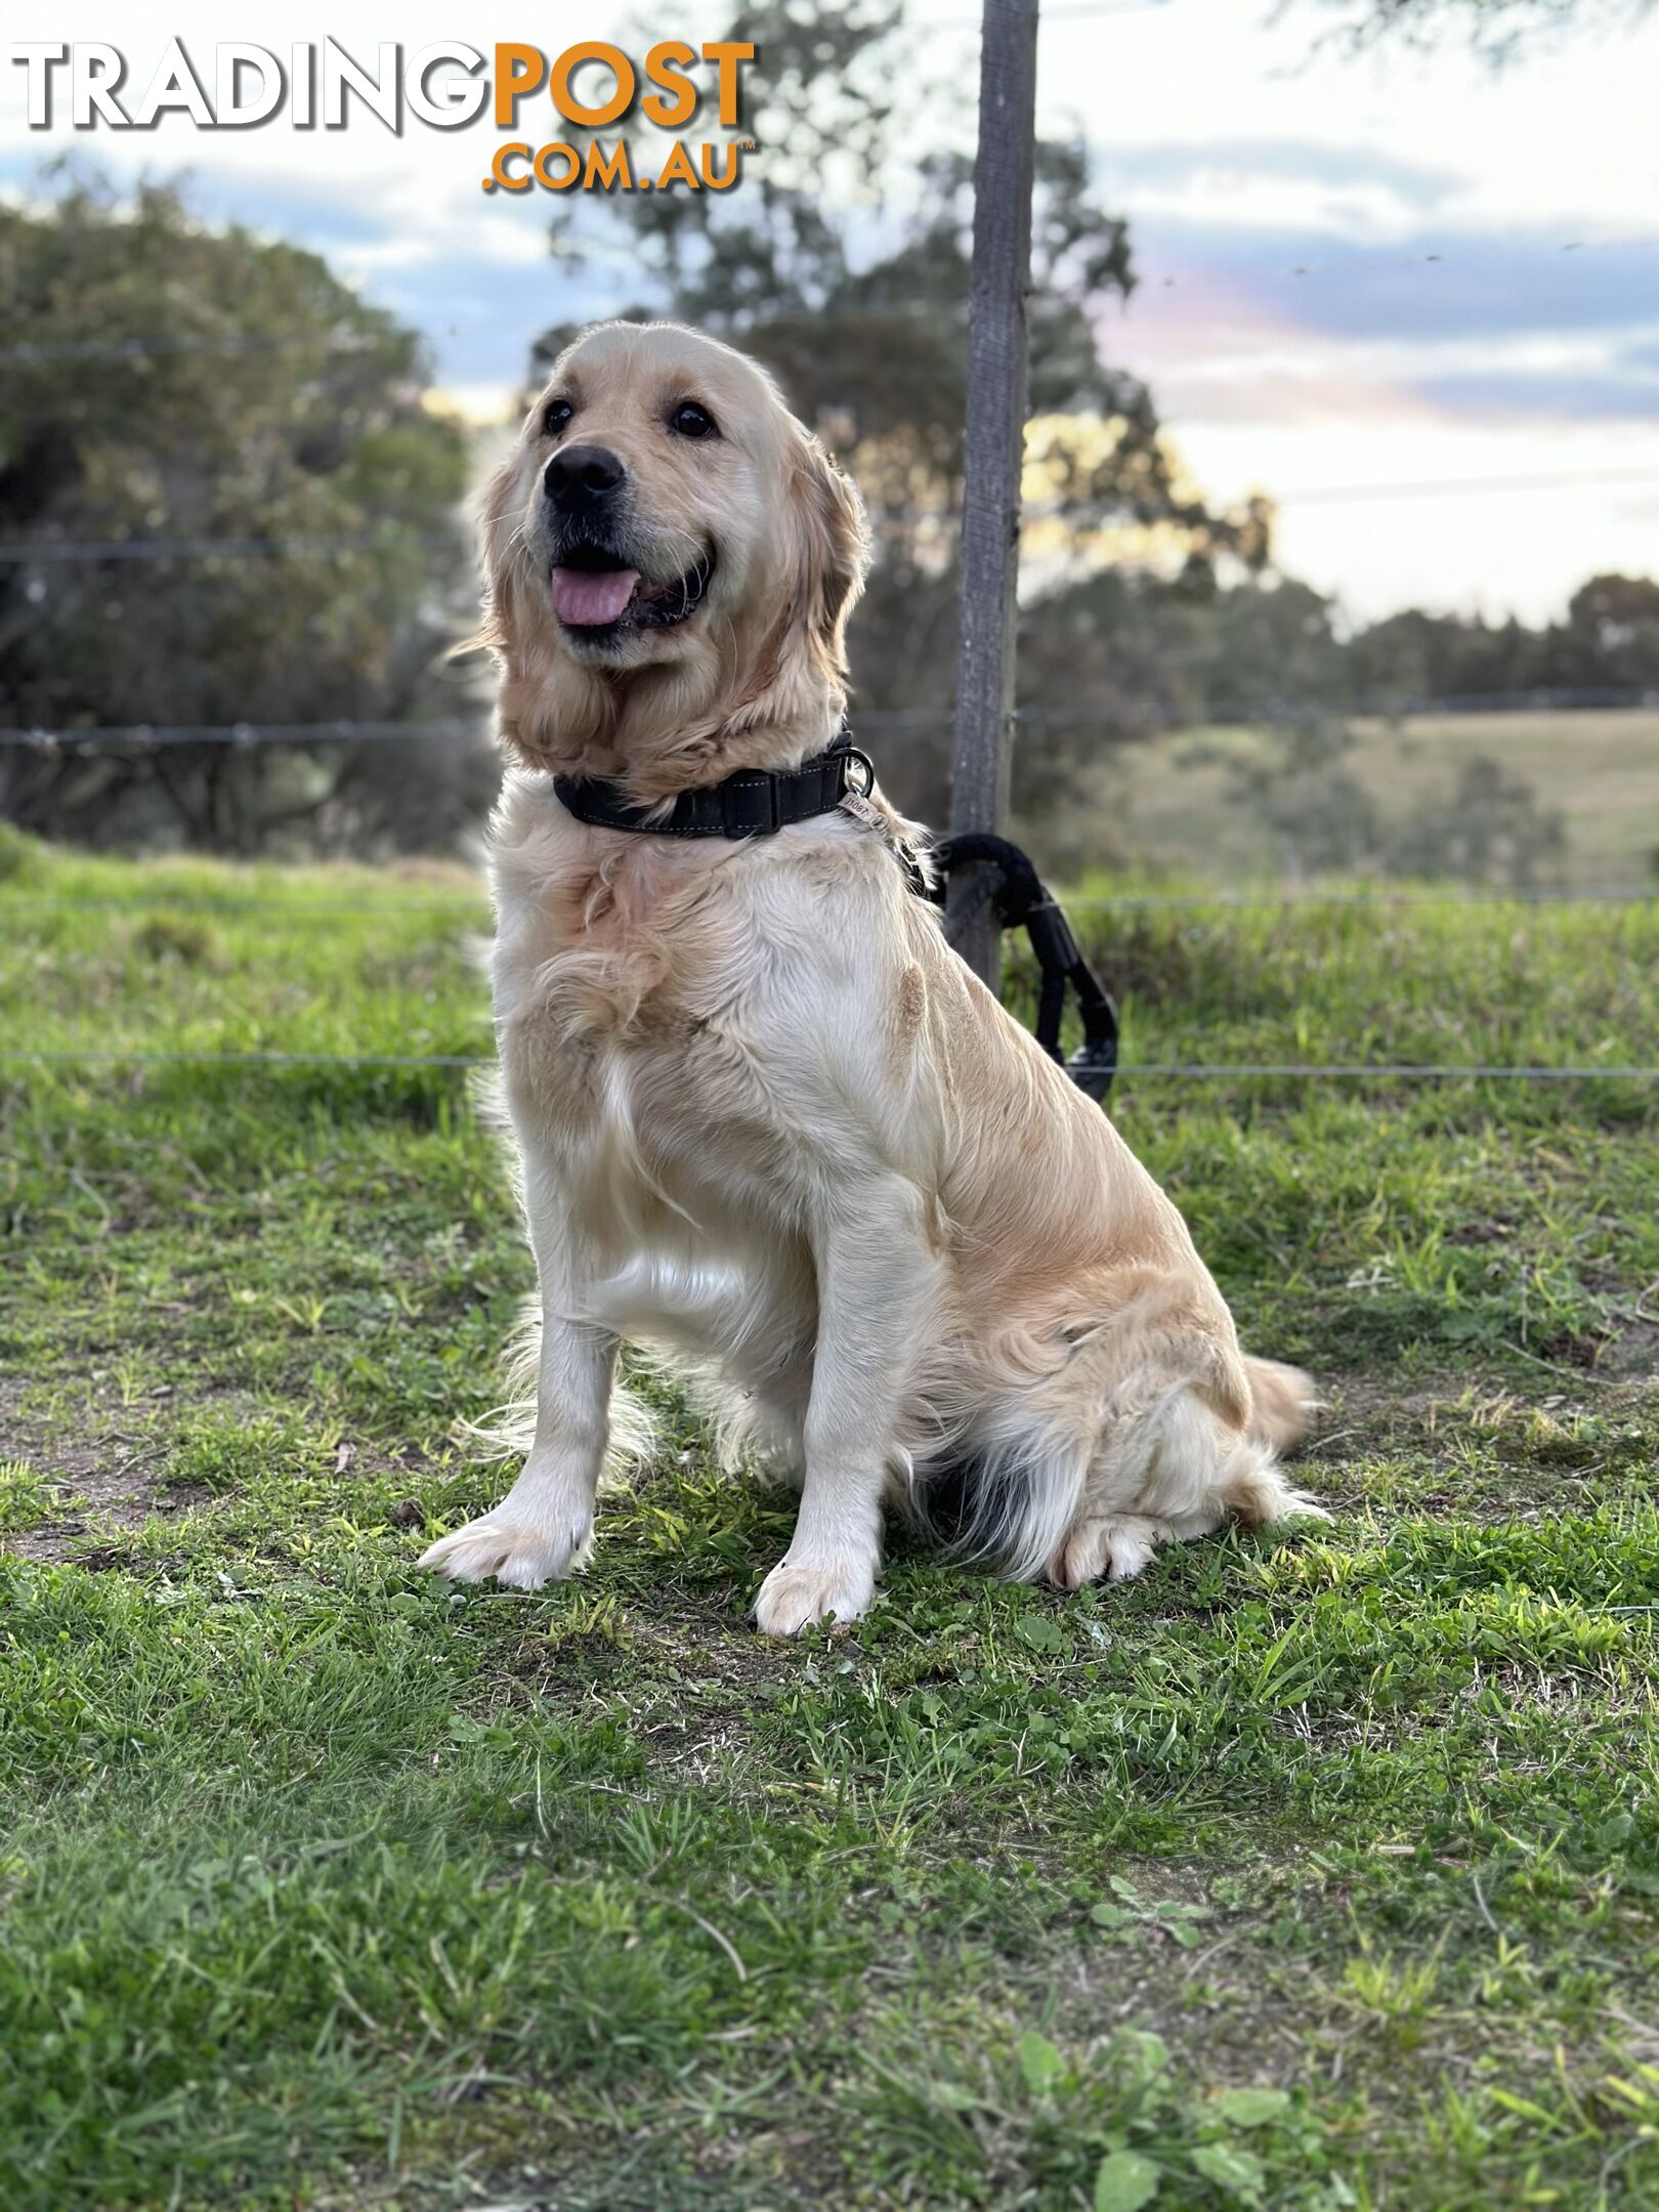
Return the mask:
[[(622, 310), (699, 323), (743, 345), (852, 469), (869, 507), (876, 571), (852, 630), (856, 701), (911, 717), (883, 748), (900, 805), (942, 818), (956, 684), (958, 518), (967, 405), (973, 157), (938, 144), (940, 117), (971, 128), (962, 86), (931, 88), (902, 0), (759, 0), (732, 22), (754, 40), (757, 91), (741, 133), (754, 157), (730, 195), (650, 192), (602, 206), (595, 239), (562, 215), (568, 261), (622, 252), (637, 296)], [(951, 124), (945, 124), (947, 133)], [(918, 153), (918, 146), (927, 150)], [(606, 234), (606, 228), (611, 234)], [(1104, 352), (1104, 310), (1135, 283), (1124, 223), (1102, 204), (1082, 142), (1035, 159), (1031, 429), (1026, 436), (1026, 672), (1044, 703), (1053, 608), (1071, 635), (1079, 602), (1121, 560), (1212, 577), (1261, 562), (1267, 511), (1214, 513), (1188, 484), (1148, 389)], [(549, 332), (538, 372), (571, 332)], [(1110, 597), (1113, 586), (1102, 586)], [(1033, 681), (1035, 679), (1035, 681)], [(1064, 684), (1075, 701), (1075, 670)], [(1015, 750), (1015, 803), (1053, 812), (1110, 730), (1051, 728)]]

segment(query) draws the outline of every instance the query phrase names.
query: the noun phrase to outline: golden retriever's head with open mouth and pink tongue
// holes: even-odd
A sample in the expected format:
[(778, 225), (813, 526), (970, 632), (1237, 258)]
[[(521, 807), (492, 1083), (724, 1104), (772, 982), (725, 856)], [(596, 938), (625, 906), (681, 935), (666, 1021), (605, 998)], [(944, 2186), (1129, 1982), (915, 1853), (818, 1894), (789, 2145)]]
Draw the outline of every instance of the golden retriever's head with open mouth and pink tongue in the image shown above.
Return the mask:
[(538, 765), (650, 781), (664, 750), (721, 765), (721, 734), (745, 765), (768, 728), (787, 752), (838, 712), (858, 495), (770, 376), (692, 330), (606, 323), (560, 356), (489, 487), (484, 562), (502, 732)]

